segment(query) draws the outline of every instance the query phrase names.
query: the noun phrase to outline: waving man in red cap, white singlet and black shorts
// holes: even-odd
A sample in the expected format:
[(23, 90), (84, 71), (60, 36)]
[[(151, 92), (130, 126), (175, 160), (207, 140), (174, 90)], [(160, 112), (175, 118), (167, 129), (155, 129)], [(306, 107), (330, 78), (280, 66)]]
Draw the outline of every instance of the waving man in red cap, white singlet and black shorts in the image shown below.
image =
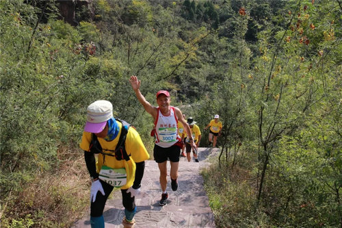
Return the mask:
[[(163, 206), (167, 204), (168, 192), (166, 192), (166, 186), (168, 183), (168, 168), (166, 162), (170, 160), (170, 177), (171, 188), (176, 191), (178, 188), (178, 168), (179, 168), (179, 155), (181, 154), (181, 148), (183, 142), (181, 136), (178, 134), (177, 123), (181, 122), (184, 127), (184, 131), (191, 135), (191, 130), (187, 122), (185, 121), (181, 110), (177, 107), (170, 105), (170, 94), (166, 90), (159, 90), (156, 94), (158, 107), (151, 105), (146, 101), (145, 97), (140, 92), (140, 80), (136, 76), (132, 75), (129, 79), (131, 86), (137, 96), (137, 99), (144, 106), (146, 112), (153, 116), (155, 122), (155, 148), (153, 149), (153, 156), (158, 163), (160, 171), (159, 181), (161, 186), (161, 200), (159, 205)], [(196, 149), (194, 138), (189, 138), (191, 145)]]

